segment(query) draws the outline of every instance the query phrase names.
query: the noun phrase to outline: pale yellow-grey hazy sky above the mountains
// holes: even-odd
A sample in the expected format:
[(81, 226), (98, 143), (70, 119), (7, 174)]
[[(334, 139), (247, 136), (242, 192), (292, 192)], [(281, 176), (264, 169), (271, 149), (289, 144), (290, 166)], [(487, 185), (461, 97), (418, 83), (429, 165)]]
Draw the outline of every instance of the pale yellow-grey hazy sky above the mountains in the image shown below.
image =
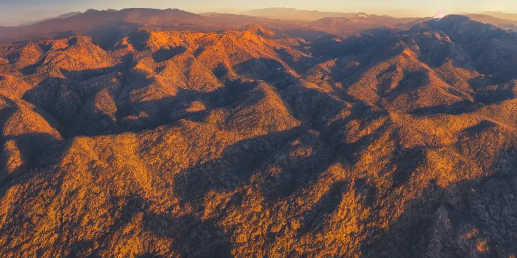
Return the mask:
[(16, 25), (71, 11), (127, 7), (179, 8), (191, 12), (238, 12), (265, 7), (353, 11), (393, 16), (504, 11), (517, 13), (517, 0), (0, 0), (0, 24)]

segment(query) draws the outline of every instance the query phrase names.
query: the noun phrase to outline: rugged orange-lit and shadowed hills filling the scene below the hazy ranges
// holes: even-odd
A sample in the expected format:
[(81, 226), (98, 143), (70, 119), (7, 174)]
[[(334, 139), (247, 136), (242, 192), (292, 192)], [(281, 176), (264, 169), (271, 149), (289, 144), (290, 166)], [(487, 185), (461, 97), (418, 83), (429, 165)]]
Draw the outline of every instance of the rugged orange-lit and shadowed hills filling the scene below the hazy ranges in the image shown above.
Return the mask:
[(517, 255), (516, 34), (124, 15), (0, 44), (0, 256)]

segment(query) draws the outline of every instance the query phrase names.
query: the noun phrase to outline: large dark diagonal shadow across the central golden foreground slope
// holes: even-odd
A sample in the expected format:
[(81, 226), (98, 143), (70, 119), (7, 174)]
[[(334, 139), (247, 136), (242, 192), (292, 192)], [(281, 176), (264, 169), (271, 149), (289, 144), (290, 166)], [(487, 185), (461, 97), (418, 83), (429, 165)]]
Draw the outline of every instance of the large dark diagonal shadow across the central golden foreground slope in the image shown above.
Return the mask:
[[(289, 157), (292, 148), (290, 143), (296, 147), (309, 148), (311, 153), (309, 156)], [(188, 202), (195, 211), (203, 211), (208, 192), (232, 192), (249, 184), (252, 176), (257, 176), (264, 203), (274, 203), (309, 187), (333, 159), (325, 142), (308, 133), (306, 128), (297, 127), (240, 140), (226, 147), (220, 158), (182, 170), (175, 176), (172, 189), (181, 202)], [(281, 167), (281, 171), (270, 175), (266, 172), (270, 166)], [(326, 197), (316, 204), (314, 212), (307, 214), (306, 220), (310, 220), (306, 226), (308, 230), (317, 227), (319, 218), (337, 208), (345, 187), (345, 183), (334, 184)], [(225, 209), (230, 206), (241, 205), (244, 195), (245, 192), (237, 191), (229, 201), (217, 207), (221, 211), (219, 218), (225, 216)], [(276, 235), (268, 233), (268, 243), (273, 243)]]

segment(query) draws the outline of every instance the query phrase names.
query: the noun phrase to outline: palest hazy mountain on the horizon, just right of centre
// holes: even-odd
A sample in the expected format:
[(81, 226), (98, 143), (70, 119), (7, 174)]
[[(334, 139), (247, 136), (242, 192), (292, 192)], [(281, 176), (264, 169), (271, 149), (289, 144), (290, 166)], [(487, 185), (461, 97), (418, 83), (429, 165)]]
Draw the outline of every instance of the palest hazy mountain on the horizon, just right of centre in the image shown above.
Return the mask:
[(315, 21), (326, 17), (345, 17), (351, 18), (356, 15), (352, 12), (323, 12), (317, 10), (299, 10), (295, 8), (271, 7), (263, 9), (254, 9), (242, 12), (243, 14), (267, 17), (271, 19), (282, 20), (302, 20)]

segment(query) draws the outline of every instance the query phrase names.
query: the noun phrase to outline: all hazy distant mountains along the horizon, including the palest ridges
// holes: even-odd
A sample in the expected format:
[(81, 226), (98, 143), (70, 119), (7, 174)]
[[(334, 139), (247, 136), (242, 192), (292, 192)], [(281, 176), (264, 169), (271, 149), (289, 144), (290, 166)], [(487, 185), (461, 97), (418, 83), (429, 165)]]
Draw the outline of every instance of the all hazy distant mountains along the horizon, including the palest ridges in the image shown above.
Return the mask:
[[(498, 12), (467, 13), (469, 18), (490, 23), (506, 30), (517, 30), (517, 18)], [(249, 24), (261, 24), (265, 28), (292, 37), (313, 39), (331, 34), (348, 36), (375, 27), (409, 28), (415, 22), (431, 18), (393, 18), (351, 12), (323, 12), (295, 8), (265, 8), (232, 13), (191, 13), (179, 9), (128, 8), (122, 10), (95, 10), (70, 12), (57, 17), (20, 26), (0, 27), (0, 42), (52, 39), (77, 34), (93, 37), (103, 47), (109, 47), (121, 38), (140, 28), (154, 30), (195, 30), (211, 32), (225, 29), (241, 29)], [(512, 20), (513, 19), (513, 20)]]

